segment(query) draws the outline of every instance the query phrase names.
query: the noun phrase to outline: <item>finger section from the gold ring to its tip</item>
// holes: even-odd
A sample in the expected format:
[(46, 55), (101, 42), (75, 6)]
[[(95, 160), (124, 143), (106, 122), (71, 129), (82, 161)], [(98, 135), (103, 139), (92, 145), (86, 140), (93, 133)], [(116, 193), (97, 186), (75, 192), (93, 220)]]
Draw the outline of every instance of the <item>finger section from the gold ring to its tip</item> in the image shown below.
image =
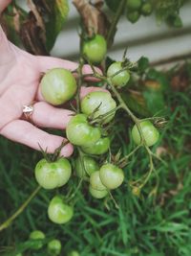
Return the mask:
[(74, 112), (68, 109), (54, 107), (45, 102), (33, 105), (32, 122), (42, 128), (66, 128)]

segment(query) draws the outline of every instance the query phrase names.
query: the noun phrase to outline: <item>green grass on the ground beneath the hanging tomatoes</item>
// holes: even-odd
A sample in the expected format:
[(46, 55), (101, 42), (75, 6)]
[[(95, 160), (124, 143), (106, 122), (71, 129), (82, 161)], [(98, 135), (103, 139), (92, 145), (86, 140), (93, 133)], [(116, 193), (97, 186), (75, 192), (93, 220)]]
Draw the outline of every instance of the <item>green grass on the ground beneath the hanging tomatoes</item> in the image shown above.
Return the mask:
[[(190, 256), (190, 89), (184, 92), (169, 89), (165, 100), (173, 110), (169, 110), (166, 127), (160, 130), (158, 146), (167, 151), (162, 156), (167, 165), (155, 161), (158, 177), (152, 175), (140, 198), (132, 194), (127, 181), (147, 171), (148, 159), (143, 151), (131, 158), (124, 169), (125, 184), (113, 193), (119, 209), (111, 199), (91, 198), (84, 182), (74, 197), (74, 219), (56, 225), (47, 217), (48, 203), (56, 192), (41, 190), (9, 228), (0, 232), (0, 255), (16, 255), (22, 250), (28, 256), (47, 255), (47, 242), (56, 238), (63, 244), (61, 255), (76, 249), (81, 256)], [(123, 119), (124, 116), (118, 117), (121, 124)], [(120, 123), (113, 130), (117, 137), (114, 151), (122, 143), (125, 154), (133, 148), (133, 143), (128, 141), (131, 126), (127, 123), (124, 128)], [(41, 154), (1, 137), (0, 155), (0, 221), (3, 222), (36, 188), (33, 169)], [(59, 192), (66, 195), (77, 182), (73, 177)], [(28, 238), (33, 229), (46, 233), (41, 251), (30, 249), (32, 243)]]

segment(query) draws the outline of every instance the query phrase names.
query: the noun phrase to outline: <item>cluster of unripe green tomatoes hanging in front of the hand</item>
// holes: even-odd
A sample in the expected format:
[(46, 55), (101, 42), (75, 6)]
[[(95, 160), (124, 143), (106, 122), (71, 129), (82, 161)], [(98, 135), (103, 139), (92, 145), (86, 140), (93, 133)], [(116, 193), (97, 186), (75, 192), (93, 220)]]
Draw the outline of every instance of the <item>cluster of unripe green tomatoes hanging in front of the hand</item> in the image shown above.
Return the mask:
[[(97, 49), (103, 45), (101, 55)], [(96, 53), (95, 53), (96, 49)], [(102, 35), (85, 42), (83, 54), (92, 63), (101, 61), (106, 53), (105, 39)], [(107, 70), (107, 77), (117, 88), (126, 85), (130, 79), (128, 70), (123, 69), (120, 61), (112, 63)], [(40, 82), (44, 99), (52, 105), (63, 105), (72, 100), (77, 91), (73, 74), (63, 68), (49, 70)], [(66, 135), (76, 149), (78, 156), (73, 159), (73, 167), (67, 158), (59, 157), (53, 162), (43, 158), (35, 167), (35, 178), (38, 184), (47, 190), (53, 190), (67, 184), (72, 176), (86, 179), (89, 183), (90, 195), (94, 198), (105, 198), (117, 189), (124, 181), (124, 172), (114, 162), (105, 161), (98, 165), (96, 158), (110, 151), (110, 137), (105, 133), (115, 118), (117, 101), (106, 90), (94, 91), (80, 99), (80, 110), (71, 116), (66, 128)], [(145, 144), (153, 146), (159, 139), (159, 131), (146, 120), (139, 124)], [(141, 144), (139, 128), (135, 125), (132, 137), (136, 144)], [(74, 207), (67, 203), (62, 195), (52, 198), (48, 207), (51, 221), (63, 224), (74, 216)]]

